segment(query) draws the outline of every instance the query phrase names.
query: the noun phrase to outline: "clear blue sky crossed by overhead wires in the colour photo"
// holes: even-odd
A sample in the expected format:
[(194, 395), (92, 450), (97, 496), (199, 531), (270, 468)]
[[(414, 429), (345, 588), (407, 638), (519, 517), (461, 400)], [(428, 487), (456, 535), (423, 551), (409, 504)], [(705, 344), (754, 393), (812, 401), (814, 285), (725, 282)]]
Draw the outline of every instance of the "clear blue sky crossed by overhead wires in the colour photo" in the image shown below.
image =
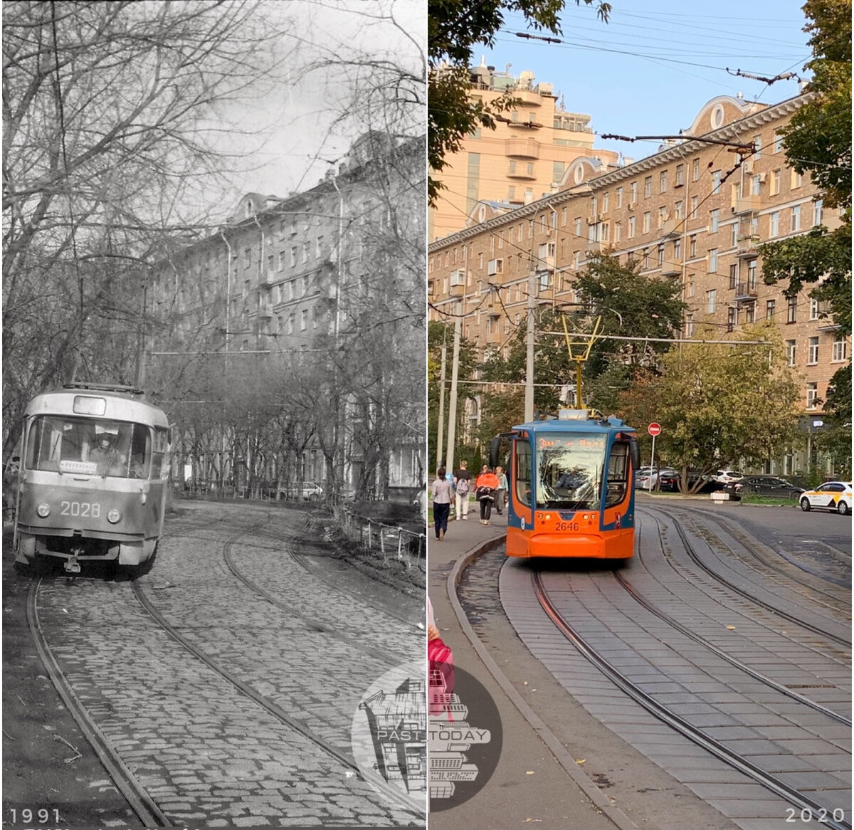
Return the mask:
[(769, 85), (732, 73), (769, 79), (793, 72), (809, 79), (802, 5), (803, 0), (611, 0), (609, 22), (603, 23), (594, 7), (567, 0), (561, 44), (517, 37), (515, 32), (536, 32), (521, 15), (508, 16), (494, 49), (477, 51), (474, 62), (485, 57), (500, 72), (510, 63), (516, 77), (531, 70), (564, 96), (566, 110), (592, 116), (594, 148), (636, 160), (656, 152), (661, 142), (600, 136), (676, 135), (719, 95), (741, 92), (746, 101), (765, 104), (797, 95), (797, 80)]

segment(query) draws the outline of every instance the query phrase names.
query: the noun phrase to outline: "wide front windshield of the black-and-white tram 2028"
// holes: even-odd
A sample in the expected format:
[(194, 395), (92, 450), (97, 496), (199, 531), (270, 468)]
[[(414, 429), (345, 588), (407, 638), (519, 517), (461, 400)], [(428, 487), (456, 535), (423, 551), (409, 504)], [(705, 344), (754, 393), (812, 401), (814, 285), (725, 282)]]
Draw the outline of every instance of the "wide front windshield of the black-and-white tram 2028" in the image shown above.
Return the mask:
[(145, 424), (40, 415), (33, 418), (26, 467), (85, 476), (148, 478), (152, 430)]

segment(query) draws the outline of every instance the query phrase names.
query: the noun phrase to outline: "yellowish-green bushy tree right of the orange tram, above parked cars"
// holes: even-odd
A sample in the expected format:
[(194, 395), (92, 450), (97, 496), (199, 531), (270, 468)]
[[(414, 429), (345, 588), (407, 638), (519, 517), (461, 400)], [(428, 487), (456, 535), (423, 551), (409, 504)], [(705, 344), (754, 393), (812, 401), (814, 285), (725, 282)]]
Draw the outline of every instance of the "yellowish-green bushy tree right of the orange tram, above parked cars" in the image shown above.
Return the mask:
[(689, 468), (703, 474), (723, 464), (761, 464), (800, 438), (798, 385), (779, 331), (761, 324), (744, 333), (767, 344), (685, 343), (664, 355), (661, 377), (644, 371), (620, 395), (617, 414), (639, 428), (642, 441), (640, 428), (661, 424), (656, 447), (681, 470), (683, 493)]

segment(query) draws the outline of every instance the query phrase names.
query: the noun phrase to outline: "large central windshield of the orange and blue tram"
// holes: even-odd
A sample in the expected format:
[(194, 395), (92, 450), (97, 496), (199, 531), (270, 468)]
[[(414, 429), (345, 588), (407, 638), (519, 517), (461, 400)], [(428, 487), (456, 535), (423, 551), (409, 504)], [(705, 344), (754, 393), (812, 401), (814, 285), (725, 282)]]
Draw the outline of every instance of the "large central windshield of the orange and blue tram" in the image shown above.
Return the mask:
[(536, 506), (596, 510), (601, 502), (605, 435), (537, 435)]

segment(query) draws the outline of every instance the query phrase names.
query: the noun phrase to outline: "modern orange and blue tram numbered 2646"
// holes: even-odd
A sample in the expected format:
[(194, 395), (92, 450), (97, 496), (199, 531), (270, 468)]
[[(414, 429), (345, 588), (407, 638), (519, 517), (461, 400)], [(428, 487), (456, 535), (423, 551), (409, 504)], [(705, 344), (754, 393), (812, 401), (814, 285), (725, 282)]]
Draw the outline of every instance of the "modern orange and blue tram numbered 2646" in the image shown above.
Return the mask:
[(510, 441), (507, 556), (628, 559), (635, 547), (635, 430), (618, 418), (564, 409), (495, 438)]

